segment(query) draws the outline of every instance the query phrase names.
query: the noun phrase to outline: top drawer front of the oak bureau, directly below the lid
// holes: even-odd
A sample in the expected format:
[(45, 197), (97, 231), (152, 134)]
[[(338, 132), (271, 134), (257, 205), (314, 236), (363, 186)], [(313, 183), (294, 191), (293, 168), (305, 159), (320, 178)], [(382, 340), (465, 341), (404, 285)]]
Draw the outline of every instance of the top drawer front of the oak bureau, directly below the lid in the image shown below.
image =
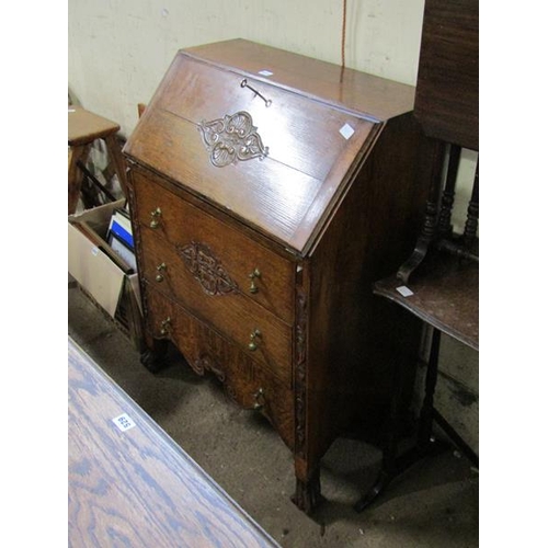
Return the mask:
[[(134, 173), (134, 181), (144, 239), (151, 241), (149, 235), (153, 233), (169, 242), (181, 272), (191, 273), (205, 295), (238, 293), (293, 322), (294, 263), (151, 184), (140, 173)], [(148, 252), (146, 249), (145, 259)], [(160, 263), (149, 267), (164, 261), (157, 260)]]

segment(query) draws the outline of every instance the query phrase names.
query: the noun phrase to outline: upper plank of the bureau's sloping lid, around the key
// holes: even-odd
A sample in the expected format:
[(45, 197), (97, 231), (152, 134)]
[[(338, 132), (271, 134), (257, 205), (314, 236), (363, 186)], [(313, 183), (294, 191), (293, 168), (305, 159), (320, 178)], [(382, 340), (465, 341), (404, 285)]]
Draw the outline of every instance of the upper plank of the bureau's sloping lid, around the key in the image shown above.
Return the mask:
[[(171, 70), (173, 72), (165, 76), (169, 83), (155, 104), (157, 109), (164, 109), (196, 125), (246, 111), (269, 147), (270, 158), (315, 179), (324, 179), (345, 147), (342, 136), (332, 138), (344, 124), (351, 124), (354, 130), (361, 125), (372, 126), (372, 122), (347, 111), (247, 77), (248, 85), (271, 101), (266, 106), (252, 90), (241, 87), (242, 75), (212, 67), (184, 53)], [(329, 147), (326, 146), (328, 139)]]

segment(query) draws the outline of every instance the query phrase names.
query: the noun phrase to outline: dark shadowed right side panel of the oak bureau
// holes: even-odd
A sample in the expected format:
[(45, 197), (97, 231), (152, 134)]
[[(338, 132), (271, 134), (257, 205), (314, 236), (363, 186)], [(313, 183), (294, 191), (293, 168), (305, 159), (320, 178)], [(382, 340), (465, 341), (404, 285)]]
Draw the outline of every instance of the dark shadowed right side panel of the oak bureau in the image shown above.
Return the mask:
[(422, 144), (410, 114), (385, 125), (311, 254), (307, 446), (312, 458), (354, 421), (375, 436), (387, 411), (391, 365), (400, 351), (416, 351), (419, 323), (375, 297), (372, 285), (399, 267), (420, 231), (427, 194), (420, 176)]

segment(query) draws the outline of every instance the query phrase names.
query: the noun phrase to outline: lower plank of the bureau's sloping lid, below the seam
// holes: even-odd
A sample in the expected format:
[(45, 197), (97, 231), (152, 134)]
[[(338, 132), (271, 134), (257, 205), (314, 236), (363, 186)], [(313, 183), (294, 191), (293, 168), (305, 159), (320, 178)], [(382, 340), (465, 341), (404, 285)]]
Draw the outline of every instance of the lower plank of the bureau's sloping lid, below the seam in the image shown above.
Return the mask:
[[(130, 158), (292, 244), (300, 218), (321, 185), (318, 179), (272, 158), (217, 168), (194, 124), (151, 106), (147, 111), (146, 129), (134, 134), (124, 147)], [(145, 116), (147, 113), (142, 121)]]

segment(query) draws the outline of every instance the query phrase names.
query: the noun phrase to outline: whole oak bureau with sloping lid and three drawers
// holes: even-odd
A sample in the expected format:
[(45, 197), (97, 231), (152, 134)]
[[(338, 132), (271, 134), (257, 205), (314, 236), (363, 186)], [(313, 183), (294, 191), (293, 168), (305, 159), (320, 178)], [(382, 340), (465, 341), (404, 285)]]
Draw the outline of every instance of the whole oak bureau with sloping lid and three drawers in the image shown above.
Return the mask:
[[(409, 255), (426, 183), (414, 88), (243, 39), (176, 54), (124, 153), (147, 349), (171, 341), (293, 452), (378, 430), (409, 341), (372, 283)], [(368, 430), (369, 429), (369, 430)]]

